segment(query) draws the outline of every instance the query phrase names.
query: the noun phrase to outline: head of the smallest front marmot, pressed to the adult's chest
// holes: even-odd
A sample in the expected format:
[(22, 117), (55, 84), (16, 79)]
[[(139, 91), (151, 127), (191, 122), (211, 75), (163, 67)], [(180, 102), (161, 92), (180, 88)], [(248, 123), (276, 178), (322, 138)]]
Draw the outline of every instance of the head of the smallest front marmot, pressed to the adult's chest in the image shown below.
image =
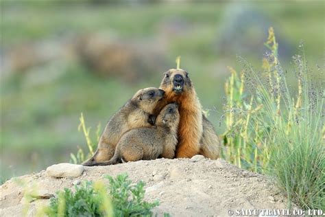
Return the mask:
[(180, 122), (180, 113), (178, 112), (178, 104), (173, 102), (171, 104), (167, 104), (159, 113), (156, 119), (156, 126), (169, 126), (176, 128), (178, 127), (178, 123)]

